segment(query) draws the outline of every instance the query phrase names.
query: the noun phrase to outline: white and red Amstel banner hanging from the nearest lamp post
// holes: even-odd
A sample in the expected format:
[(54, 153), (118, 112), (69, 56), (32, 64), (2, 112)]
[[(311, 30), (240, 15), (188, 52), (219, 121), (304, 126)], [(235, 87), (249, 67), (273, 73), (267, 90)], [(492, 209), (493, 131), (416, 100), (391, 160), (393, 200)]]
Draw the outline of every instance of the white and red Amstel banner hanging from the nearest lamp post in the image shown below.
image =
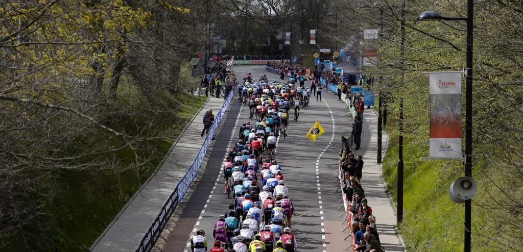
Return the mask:
[(461, 158), (462, 72), (431, 72), (429, 157)]

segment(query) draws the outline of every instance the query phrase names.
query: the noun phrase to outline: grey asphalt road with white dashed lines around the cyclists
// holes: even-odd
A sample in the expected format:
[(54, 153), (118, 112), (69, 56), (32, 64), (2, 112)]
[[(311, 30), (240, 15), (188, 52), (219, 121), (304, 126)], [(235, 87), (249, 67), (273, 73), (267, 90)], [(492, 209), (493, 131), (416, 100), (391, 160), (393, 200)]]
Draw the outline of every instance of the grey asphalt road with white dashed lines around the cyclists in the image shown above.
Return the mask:
[[(235, 66), (234, 72), (239, 81), (248, 72), (255, 79), (263, 74), (267, 75), (269, 82), (279, 79), (278, 75), (266, 72), (265, 66)], [(306, 82), (305, 86), (310, 86), (310, 82)], [(342, 233), (346, 224), (339, 217), (343, 210), (337, 210), (343, 203), (337, 203), (339, 198), (336, 198), (338, 192), (335, 190), (339, 184), (334, 182), (334, 172), (338, 167), (340, 137), (350, 135), (353, 120), (337, 96), (327, 89), (322, 90), (322, 96), (322, 102), (311, 97), (309, 107), (301, 110), (298, 122), (290, 120), (287, 138), (278, 139), (276, 150), (276, 159), (295, 208), (292, 234), (297, 238), (299, 251), (345, 251), (350, 245), (350, 238), (344, 240), (348, 232)], [(223, 193), (222, 162), (232, 151), (241, 125), (255, 121), (248, 118), (247, 106), (242, 106), (240, 102), (234, 102), (232, 106), (217, 136), (206, 174), (190, 198), (164, 251), (190, 251), (189, 238), (200, 228), (206, 231), (209, 248), (212, 247), (214, 223), (232, 203), (232, 199), (227, 199)], [(293, 118), (292, 112), (290, 118)], [(316, 120), (326, 134), (313, 143), (305, 135)], [(363, 123), (361, 148), (356, 155), (367, 150), (369, 136), (366, 129), (368, 125)]]

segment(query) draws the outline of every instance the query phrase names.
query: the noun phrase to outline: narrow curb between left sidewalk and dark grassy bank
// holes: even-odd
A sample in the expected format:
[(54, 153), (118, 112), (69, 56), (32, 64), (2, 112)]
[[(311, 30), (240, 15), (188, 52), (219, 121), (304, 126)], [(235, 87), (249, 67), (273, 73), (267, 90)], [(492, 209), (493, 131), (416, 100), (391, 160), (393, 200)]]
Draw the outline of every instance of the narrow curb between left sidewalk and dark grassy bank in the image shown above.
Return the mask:
[(209, 102), (209, 98), (207, 98), (207, 101), (204, 102), (204, 104), (202, 104), (202, 106), (200, 107), (200, 109), (194, 114), (194, 116), (192, 116), (191, 120), (188, 121), (184, 127), (184, 130), (181, 131), (181, 133), (177, 136), (176, 140), (173, 142), (173, 144), (170, 146), (169, 148), (169, 151), (164, 155), (164, 157), (162, 158), (162, 161), (160, 162), (160, 164), (158, 164), (158, 166), (154, 169), (153, 173), (151, 174), (151, 176), (149, 176), (149, 178), (147, 178), (143, 184), (140, 186), (140, 188), (138, 188), (138, 190), (133, 194), (133, 196), (127, 201), (127, 203), (125, 205), (123, 205), (122, 209), (120, 209), (120, 211), (118, 212), (118, 214), (112, 219), (111, 223), (109, 223), (109, 225), (107, 225), (107, 227), (104, 229), (104, 231), (98, 236), (98, 238), (96, 238), (96, 240), (93, 242), (93, 245), (91, 245), (89, 247), (89, 251), (93, 251), (93, 249), (96, 247), (96, 245), (98, 245), (98, 243), (100, 242), (100, 239), (101, 238), (104, 238), (104, 236), (106, 235), (107, 231), (109, 230), (109, 228), (115, 224), (115, 221), (118, 220), (120, 218), (120, 216), (122, 215), (123, 211), (126, 210), (128, 207), (129, 207), (129, 204), (131, 204), (131, 202), (142, 192), (143, 188), (145, 188), (145, 186), (147, 184), (149, 184), (149, 182), (151, 181), (151, 179), (158, 173), (158, 170), (160, 170), (160, 168), (162, 167), (162, 165), (165, 163), (165, 159), (167, 159), (167, 156), (169, 156), (169, 154), (173, 151), (173, 148), (176, 146), (176, 144), (178, 144), (178, 140), (180, 140), (181, 136), (185, 133), (185, 131), (187, 130), (187, 128), (189, 128), (189, 125), (192, 123), (192, 121), (195, 120), (196, 116), (198, 116), (198, 114), (200, 113), (200, 111), (203, 109), (203, 107), (205, 107), (205, 105), (207, 105), (207, 103)]

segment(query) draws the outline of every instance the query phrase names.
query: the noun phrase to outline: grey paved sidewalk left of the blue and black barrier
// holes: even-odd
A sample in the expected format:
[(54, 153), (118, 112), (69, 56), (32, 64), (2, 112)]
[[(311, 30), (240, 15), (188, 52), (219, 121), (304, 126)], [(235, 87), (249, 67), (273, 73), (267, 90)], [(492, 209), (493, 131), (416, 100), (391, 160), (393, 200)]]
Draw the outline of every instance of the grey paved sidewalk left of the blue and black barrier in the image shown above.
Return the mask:
[(118, 213), (98, 237), (90, 251), (134, 251), (169, 197), (192, 164), (205, 138), (201, 138), (206, 111), (218, 114), (223, 98), (210, 98), (167, 154), (164, 163), (150, 180)]

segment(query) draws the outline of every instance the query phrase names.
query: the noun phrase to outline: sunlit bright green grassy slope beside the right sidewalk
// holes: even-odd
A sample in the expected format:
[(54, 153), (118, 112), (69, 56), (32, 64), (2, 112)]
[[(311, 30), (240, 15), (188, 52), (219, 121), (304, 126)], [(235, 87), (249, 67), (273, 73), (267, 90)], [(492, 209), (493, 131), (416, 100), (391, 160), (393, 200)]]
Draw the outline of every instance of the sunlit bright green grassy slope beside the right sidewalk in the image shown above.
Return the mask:
[[(389, 133), (390, 145), (384, 157), (383, 176), (395, 200), (399, 147), (397, 114), (389, 113), (384, 130)], [(427, 156), (428, 145), (419, 139), (420, 136), (404, 136), (404, 215), (400, 232), (409, 251), (462, 251), (463, 204), (450, 200), (448, 188), (453, 180), (463, 176), (463, 165), (459, 161), (420, 159)], [(479, 173), (474, 176), (476, 180), (481, 179)], [(473, 205), (473, 251), (492, 251), (484, 236), (492, 230), (484, 229), (485, 220), (488, 220), (485, 212)]]

